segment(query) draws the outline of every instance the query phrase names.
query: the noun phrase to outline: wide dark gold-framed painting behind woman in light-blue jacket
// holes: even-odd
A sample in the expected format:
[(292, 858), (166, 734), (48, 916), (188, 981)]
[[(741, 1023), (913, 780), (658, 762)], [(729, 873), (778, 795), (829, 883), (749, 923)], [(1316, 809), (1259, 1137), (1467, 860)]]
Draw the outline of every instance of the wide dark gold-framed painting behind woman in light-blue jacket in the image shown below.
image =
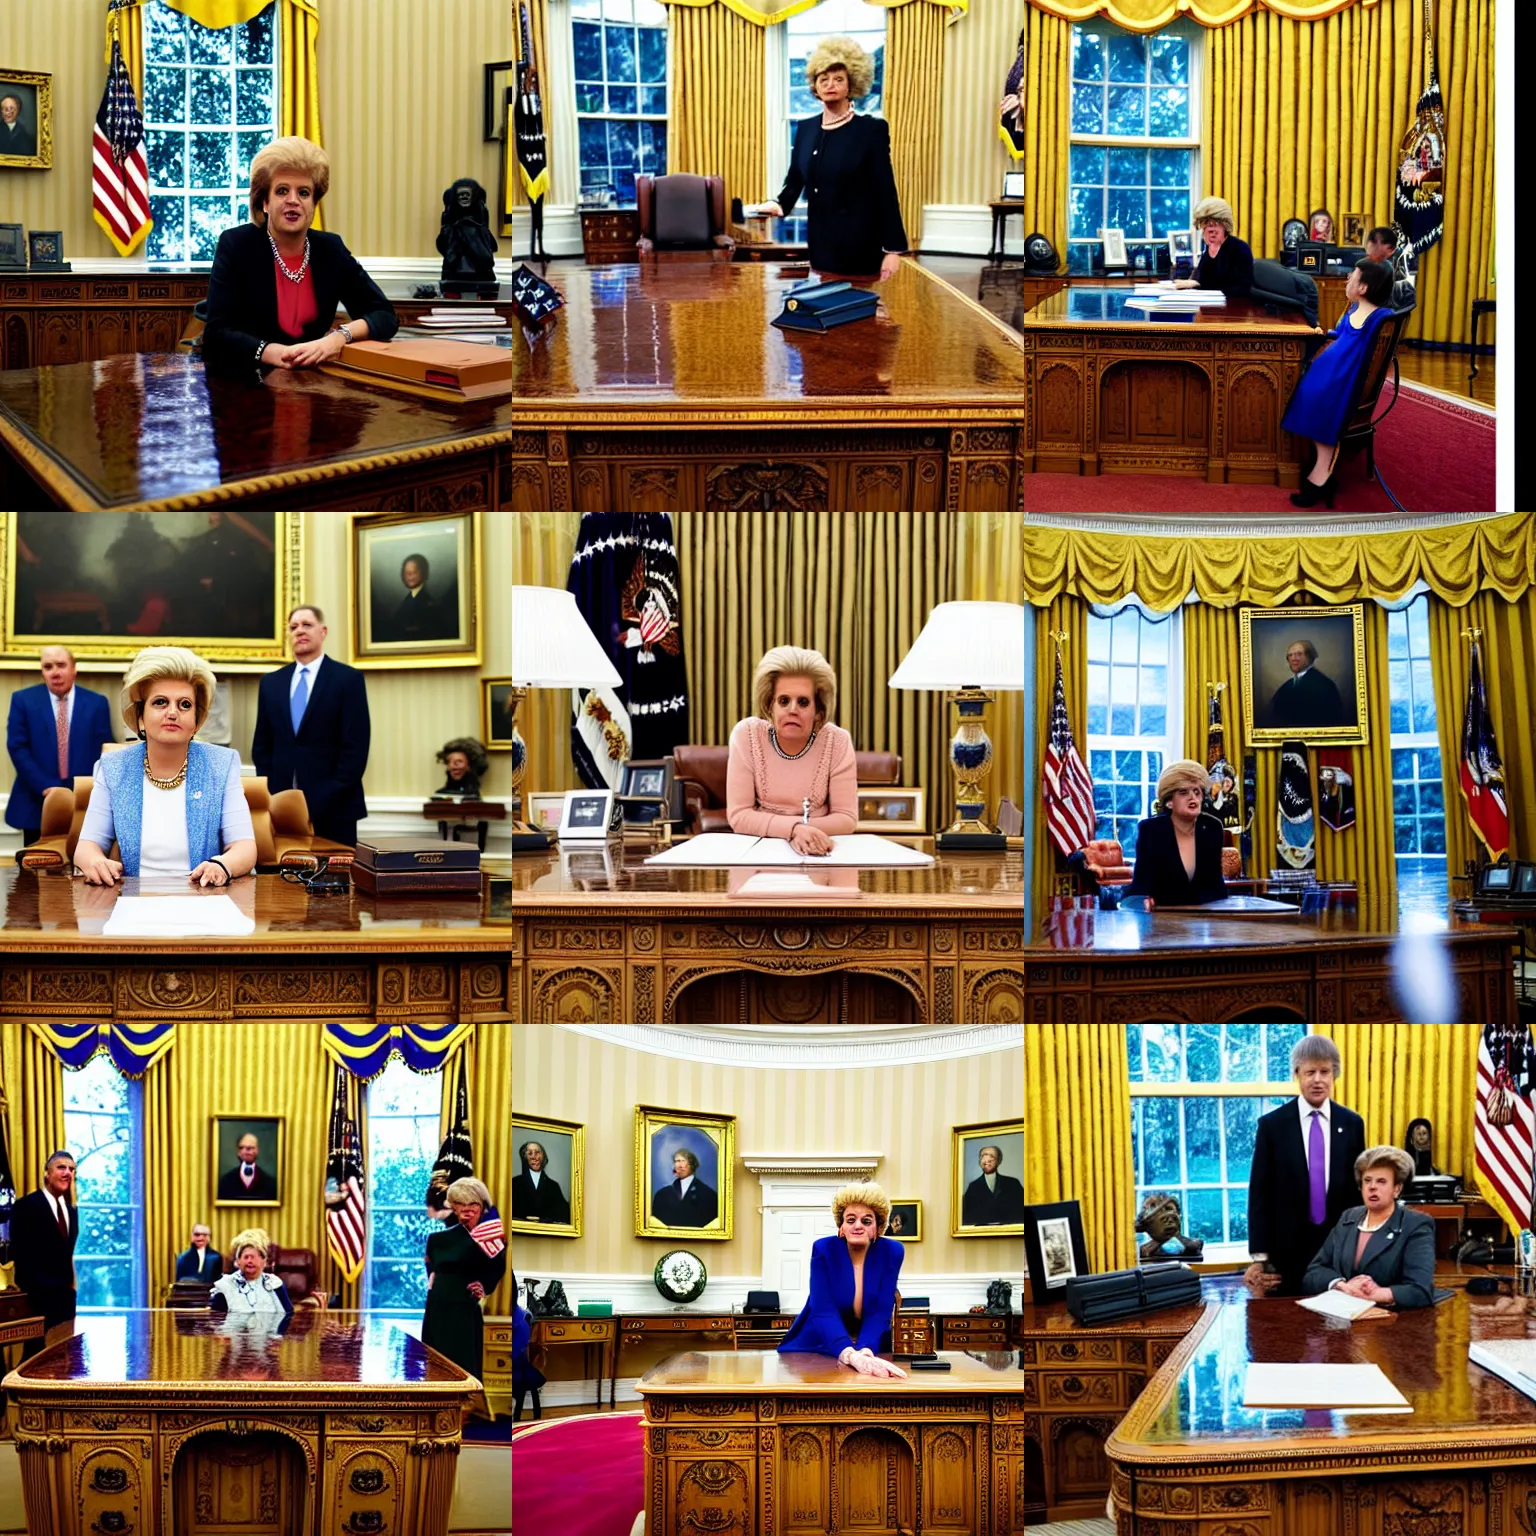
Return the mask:
[(304, 601), (296, 511), (0, 513), (0, 659), (45, 645), (78, 662), (127, 662), (184, 645), (215, 673), (287, 659), (289, 610)]

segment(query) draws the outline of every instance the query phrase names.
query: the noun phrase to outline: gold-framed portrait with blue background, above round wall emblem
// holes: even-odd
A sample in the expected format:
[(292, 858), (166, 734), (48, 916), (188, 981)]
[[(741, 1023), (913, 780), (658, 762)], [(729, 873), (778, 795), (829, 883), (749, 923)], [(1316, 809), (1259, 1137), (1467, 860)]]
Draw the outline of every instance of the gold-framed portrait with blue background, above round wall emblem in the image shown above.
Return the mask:
[(634, 1235), (725, 1243), (736, 1210), (736, 1117), (634, 1106)]

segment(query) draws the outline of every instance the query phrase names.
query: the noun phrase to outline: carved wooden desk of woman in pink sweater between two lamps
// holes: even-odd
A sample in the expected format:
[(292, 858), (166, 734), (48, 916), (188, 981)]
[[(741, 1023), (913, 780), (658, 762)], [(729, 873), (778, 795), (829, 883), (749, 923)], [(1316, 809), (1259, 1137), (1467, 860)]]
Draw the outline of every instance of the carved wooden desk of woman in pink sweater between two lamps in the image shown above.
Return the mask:
[(788, 1017), (843, 1023), (1023, 1017), (1023, 854), (828, 869), (820, 903), (739, 900), (753, 871), (647, 865), (650, 852), (518, 856), (513, 1021), (777, 1018), (791, 1005)]

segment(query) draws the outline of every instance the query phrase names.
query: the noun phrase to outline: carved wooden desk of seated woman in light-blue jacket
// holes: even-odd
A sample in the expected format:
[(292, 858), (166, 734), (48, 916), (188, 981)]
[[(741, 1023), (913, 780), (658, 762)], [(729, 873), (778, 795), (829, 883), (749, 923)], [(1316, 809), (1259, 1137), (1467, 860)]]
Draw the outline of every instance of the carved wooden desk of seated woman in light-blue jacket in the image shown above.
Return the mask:
[[(244, 938), (109, 938), (118, 894), (63, 871), (0, 869), (0, 1015), (68, 1018), (507, 1018), (508, 882), (479, 899), (310, 895), (276, 874), (227, 892)], [(164, 883), (157, 882), (157, 889)]]

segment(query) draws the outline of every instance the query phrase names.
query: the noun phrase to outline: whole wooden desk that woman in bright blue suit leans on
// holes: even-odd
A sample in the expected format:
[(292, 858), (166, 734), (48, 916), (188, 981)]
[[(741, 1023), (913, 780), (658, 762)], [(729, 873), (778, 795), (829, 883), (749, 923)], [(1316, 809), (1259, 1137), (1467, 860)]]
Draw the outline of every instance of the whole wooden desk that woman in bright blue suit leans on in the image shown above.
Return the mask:
[(641, 1379), (650, 1531), (1023, 1536), (1012, 1353), (859, 1376), (820, 1355), (674, 1355)]

